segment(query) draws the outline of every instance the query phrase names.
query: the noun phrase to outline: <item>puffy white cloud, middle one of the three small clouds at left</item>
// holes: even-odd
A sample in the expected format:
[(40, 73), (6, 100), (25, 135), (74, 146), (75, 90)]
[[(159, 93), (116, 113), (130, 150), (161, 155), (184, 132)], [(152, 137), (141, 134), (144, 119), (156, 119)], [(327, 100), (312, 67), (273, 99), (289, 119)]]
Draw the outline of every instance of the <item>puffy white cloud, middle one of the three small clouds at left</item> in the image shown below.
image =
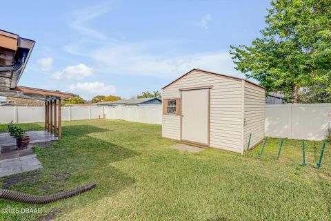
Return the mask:
[(86, 64), (68, 66), (60, 72), (54, 73), (51, 77), (57, 80), (81, 80), (93, 75), (93, 69)]

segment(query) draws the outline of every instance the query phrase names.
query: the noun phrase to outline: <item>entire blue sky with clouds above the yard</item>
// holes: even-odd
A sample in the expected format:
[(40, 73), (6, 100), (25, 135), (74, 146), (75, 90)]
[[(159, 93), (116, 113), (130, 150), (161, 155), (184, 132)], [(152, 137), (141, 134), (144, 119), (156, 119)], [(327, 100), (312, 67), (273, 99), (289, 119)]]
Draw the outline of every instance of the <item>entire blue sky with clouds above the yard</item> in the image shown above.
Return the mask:
[(36, 45), (19, 85), (84, 99), (160, 90), (192, 68), (243, 77), (230, 44), (250, 44), (269, 1), (10, 1), (0, 29)]

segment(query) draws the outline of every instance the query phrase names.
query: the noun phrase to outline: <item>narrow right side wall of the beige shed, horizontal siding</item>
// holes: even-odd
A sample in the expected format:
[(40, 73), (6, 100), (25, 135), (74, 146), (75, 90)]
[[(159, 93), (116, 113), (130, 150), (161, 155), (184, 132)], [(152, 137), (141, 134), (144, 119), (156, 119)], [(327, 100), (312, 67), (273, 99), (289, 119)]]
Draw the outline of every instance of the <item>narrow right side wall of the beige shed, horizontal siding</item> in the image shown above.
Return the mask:
[(264, 138), (264, 108), (265, 90), (245, 82), (245, 120), (244, 148), (248, 146), (250, 133), (250, 148), (261, 142)]

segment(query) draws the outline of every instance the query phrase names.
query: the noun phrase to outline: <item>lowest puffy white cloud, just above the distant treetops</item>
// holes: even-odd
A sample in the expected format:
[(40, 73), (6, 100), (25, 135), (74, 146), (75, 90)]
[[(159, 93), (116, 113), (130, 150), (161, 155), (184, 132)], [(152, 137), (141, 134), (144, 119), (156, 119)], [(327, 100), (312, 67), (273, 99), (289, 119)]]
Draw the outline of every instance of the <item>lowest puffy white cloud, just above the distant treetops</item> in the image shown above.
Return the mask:
[(85, 82), (71, 84), (70, 90), (73, 93), (81, 95), (84, 99), (91, 99), (96, 95), (114, 95), (116, 87), (113, 85), (106, 85), (103, 82)]

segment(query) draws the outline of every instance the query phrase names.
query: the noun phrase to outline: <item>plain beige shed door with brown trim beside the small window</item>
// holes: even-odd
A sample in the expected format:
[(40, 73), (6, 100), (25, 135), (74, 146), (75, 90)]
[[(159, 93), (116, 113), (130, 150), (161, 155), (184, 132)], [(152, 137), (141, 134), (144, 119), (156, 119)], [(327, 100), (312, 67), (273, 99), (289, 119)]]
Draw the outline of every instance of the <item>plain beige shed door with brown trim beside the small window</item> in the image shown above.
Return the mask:
[(181, 140), (209, 145), (209, 90), (181, 91)]

